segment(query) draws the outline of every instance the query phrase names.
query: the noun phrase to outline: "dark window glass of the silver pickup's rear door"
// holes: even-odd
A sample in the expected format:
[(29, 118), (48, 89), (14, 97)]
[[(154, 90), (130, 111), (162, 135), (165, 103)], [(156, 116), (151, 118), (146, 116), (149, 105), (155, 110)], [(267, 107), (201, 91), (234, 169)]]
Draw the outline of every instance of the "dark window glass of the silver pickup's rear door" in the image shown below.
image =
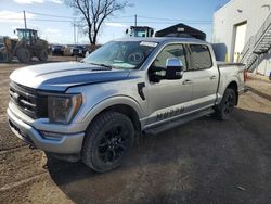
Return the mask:
[(190, 71), (201, 71), (212, 66), (209, 48), (205, 44), (190, 44)]

